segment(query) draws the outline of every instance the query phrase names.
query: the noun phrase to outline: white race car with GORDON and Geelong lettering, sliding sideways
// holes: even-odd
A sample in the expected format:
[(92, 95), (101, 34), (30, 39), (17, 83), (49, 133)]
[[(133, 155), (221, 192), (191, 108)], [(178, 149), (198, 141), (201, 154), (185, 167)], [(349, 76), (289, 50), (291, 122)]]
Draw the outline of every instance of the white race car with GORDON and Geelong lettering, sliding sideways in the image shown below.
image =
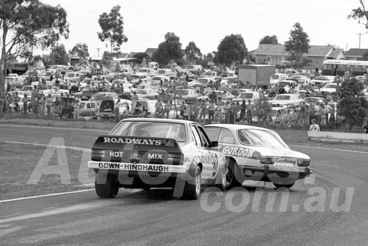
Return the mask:
[(311, 173), (311, 159), (291, 150), (277, 132), (249, 125), (212, 124), (205, 130), (226, 156), (226, 188), (241, 186), (244, 180), (272, 182), (277, 188), (291, 188)]

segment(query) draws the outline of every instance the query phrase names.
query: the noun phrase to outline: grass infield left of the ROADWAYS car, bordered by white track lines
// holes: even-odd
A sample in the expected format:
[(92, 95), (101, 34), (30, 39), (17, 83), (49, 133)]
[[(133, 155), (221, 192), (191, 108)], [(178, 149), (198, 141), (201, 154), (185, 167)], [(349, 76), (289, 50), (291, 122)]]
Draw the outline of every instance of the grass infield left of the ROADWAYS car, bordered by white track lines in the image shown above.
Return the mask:
[[(2, 154), (0, 159), (0, 200), (93, 188), (82, 185), (78, 178), (83, 154), (81, 150), (65, 149), (66, 155), (64, 155), (63, 150), (57, 152), (55, 149), (50, 150), (44, 146), (3, 142), (0, 142), (0, 150)], [(67, 159), (63, 159), (63, 156), (66, 156)], [(63, 163), (59, 163), (59, 160)], [(60, 174), (42, 174), (36, 184), (27, 184), (34, 171), (41, 170), (41, 173), (42, 170), (45, 171), (42, 166), (56, 167), (66, 164), (65, 162), (70, 175), (70, 179), (67, 179), (69, 184), (61, 181)], [(86, 163), (84, 164), (86, 165)], [(93, 183), (93, 171), (88, 170), (88, 174), (87, 170), (84, 171), (84, 175), (87, 175)], [(68, 173), (63, 172), (64, 177)], [(84, 183), (85, 180), (88, 180), (85, 178)]]

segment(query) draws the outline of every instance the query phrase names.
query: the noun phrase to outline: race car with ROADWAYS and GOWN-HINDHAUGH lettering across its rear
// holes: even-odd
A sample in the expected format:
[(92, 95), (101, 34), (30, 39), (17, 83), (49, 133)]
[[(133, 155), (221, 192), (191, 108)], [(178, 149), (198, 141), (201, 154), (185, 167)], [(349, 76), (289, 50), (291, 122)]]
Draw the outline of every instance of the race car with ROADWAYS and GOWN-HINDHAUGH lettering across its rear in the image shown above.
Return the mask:
[(225, 189), (227, 164), (202, 125), (180, 119), (129, 118), (98, 136), (88, 167), (99, 197), (119, 188), (170, 187), (173, 196), (195, 200), (202, 185)]

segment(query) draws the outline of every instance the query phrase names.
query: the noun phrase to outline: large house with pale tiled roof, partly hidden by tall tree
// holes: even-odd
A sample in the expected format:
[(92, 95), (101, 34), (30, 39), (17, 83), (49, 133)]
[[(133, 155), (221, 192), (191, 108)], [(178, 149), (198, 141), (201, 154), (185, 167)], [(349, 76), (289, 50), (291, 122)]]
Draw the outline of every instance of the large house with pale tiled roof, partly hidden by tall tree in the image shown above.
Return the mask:
[[(335, 47), (330, 45), (310, 45), (308, 53), (303, 56), (312, 60), (312, 66), (322, 66), (323, 61), (328, 59), (335, 50)], [(270, 65), (282, 65), (290, 57), (285, 45), (282, 44), (261, 44), (258, 49), (253, 51), (253, 55), (255, 56), (256, 64), (268, 61)]]

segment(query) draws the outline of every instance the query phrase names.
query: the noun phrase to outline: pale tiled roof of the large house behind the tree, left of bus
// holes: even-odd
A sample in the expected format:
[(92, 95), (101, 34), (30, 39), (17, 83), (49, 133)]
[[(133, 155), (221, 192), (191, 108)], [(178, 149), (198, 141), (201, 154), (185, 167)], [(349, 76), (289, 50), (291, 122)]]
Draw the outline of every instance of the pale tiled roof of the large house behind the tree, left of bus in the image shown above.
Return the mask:
[[(310, 45), (308, 56), (327, 56), (332, 51), (330, 45)], [(261, 44), (253, 55), (289, 55), (283, 44)]]

